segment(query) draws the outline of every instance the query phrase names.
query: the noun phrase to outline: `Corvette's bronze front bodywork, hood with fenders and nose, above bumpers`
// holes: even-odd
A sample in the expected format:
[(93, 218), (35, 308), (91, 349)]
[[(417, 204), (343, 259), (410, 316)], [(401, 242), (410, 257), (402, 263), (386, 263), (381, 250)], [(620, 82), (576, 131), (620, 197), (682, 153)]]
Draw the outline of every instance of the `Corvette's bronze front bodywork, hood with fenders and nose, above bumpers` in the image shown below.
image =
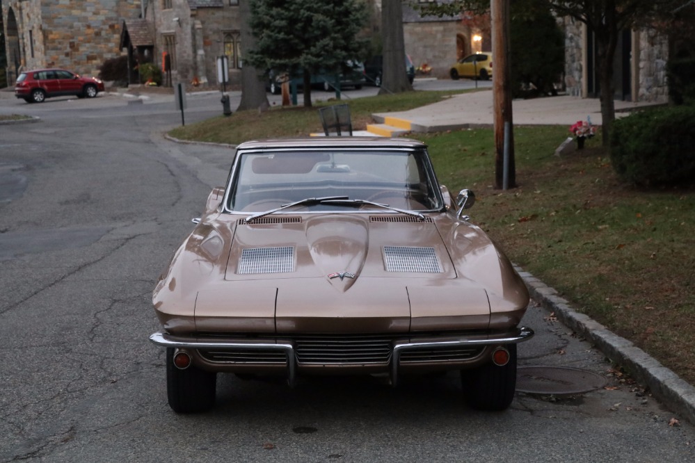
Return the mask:
[(489, 238), (449, 214), (213, 223), (195, 229), (155, 289), (170, 332), (504, 329), (528, 302)]

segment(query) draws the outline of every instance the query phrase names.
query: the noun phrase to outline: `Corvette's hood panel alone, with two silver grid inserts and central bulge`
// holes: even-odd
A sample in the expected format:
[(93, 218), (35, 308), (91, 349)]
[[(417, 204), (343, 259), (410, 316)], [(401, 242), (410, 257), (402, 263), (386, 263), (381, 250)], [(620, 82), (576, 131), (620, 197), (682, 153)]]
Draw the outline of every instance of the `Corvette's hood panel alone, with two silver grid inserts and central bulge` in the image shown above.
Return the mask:
[(273, 222), (240, 221), (225, 279), (322, 278), (344, 292), (363, 277), (456, 277), (432, 220), (332, 214)]

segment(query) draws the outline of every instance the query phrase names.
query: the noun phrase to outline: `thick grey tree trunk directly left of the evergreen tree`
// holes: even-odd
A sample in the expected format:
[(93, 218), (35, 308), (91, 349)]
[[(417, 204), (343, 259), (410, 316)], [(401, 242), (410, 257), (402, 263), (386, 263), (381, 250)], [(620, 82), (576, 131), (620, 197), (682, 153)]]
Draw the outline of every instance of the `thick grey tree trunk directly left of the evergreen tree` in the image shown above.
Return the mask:
[[(256, 42), (248, 26), (248, 19), (251, 16), (250, 0), (239, 1), (239, 15), (241, 16), (241, 56), (243, 57), (248, 50), (255, 47)], [(256, 108), (265, 110), (269, 106), (263, 75), (255, 67), (243, 65), (241, 67), (241, 102), (237, 111)]]

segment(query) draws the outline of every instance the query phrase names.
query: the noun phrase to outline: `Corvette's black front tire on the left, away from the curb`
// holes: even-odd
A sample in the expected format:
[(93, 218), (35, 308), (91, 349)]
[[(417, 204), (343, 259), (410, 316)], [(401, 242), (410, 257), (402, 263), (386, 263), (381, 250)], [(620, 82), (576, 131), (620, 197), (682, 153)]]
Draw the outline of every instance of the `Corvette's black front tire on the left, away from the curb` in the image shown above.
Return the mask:
[(177, 413), (207, 412), (215, 405), (217, 373), (189, 366), (174, 366), (174, 349), (166, 350), (166, 393), (169, 407)]

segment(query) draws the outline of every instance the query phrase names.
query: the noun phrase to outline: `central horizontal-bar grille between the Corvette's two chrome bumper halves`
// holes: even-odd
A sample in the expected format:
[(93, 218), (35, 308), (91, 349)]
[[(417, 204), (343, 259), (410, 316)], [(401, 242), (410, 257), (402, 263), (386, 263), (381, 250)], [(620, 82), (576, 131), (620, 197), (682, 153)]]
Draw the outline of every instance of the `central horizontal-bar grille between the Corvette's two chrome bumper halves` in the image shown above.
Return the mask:
[(302, 336), (295, 338), (298, 364), (388, 364), (388, 336)]

